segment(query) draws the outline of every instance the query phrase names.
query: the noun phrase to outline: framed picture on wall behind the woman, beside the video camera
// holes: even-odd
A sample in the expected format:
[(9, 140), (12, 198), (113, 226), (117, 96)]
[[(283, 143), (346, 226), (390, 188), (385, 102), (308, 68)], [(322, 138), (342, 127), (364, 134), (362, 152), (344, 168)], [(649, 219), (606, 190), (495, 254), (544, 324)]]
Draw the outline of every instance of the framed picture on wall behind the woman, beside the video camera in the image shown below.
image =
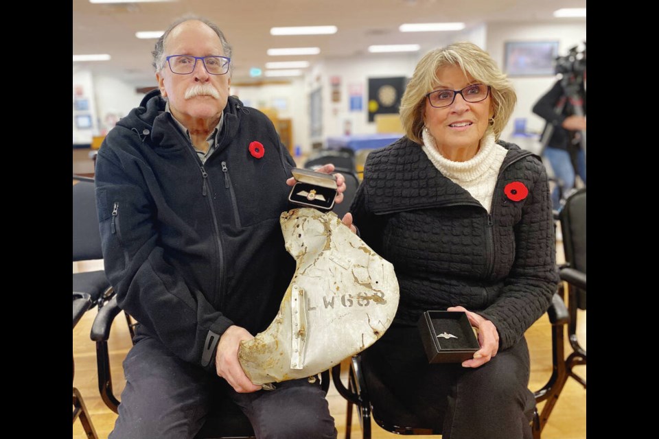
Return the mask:
[(509, 41), (505, 72), (510, 76), (553, 76), (558, 41)]

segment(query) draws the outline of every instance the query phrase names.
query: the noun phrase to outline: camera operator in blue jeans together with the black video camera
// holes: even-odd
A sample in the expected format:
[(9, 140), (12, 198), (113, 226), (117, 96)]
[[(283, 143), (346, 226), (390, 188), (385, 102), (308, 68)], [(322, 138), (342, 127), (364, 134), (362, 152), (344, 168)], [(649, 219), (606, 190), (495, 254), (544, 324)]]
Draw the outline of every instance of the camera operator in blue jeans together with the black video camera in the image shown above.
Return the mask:
[[(546, 120), (541, 143), (557, 185), (551, 194), (553, 209), (562, 195), (575, 187), (578, 174), (586, 184), (586, 50), (570, 49), (557, 58), (556, 73), (562, 74), (533, 106), (533, 112)], [(576, 169), (576, 172), (575, 172)]]

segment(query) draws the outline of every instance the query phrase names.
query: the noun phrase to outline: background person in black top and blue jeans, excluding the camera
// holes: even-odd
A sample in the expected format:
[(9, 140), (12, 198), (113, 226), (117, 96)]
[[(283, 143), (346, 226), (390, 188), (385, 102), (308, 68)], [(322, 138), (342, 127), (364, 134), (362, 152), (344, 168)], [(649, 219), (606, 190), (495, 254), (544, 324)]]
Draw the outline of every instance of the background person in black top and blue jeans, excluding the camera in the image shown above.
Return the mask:
[[(533, 112), (546, 121), (544, 131), (553, 128), (542, 154), (549, 161), (558, 182), (551, 193), (555, 210), (559, 209), (561, 194), (575, 187), (577, 175), (586, 183), (586, 151), (579, 141), (580, 132), (586, 131), (586, 88), (581, 81), (576, 84), (577, 97), (568, 97), (562, 83), (563, 80), (555, 82), (533, 106)], [(581, 106), (583, 116), (575, 114), (575, 104)]]

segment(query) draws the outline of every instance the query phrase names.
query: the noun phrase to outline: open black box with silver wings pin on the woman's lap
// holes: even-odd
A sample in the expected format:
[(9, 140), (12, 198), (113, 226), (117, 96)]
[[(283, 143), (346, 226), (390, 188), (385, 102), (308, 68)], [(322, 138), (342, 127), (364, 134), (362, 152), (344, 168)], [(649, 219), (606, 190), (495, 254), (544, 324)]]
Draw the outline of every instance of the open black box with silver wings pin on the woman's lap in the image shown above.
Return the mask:
[(464, 312), (426, 311), (417, 326), (428, 363), (461, 363), (481, 348)]

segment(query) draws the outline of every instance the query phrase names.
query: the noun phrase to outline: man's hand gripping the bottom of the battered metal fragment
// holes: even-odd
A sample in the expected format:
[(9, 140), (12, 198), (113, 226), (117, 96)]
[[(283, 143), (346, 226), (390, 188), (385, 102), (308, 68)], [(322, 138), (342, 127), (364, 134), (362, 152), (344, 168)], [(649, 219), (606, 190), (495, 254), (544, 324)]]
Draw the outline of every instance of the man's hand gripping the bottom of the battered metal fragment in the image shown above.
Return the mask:
[(242, 340), (251, 340), (254, 336), (244, 328), (234, 325), (224, 331), (218, 342), (218, 351), (215, 355), (215, 368), (218, 377), (227, 380), (233, 390), (238, 393), (250, 393), (261, 390), (260, 385), (249, 381), (245, 371), (238, 361), (238, 346)]

